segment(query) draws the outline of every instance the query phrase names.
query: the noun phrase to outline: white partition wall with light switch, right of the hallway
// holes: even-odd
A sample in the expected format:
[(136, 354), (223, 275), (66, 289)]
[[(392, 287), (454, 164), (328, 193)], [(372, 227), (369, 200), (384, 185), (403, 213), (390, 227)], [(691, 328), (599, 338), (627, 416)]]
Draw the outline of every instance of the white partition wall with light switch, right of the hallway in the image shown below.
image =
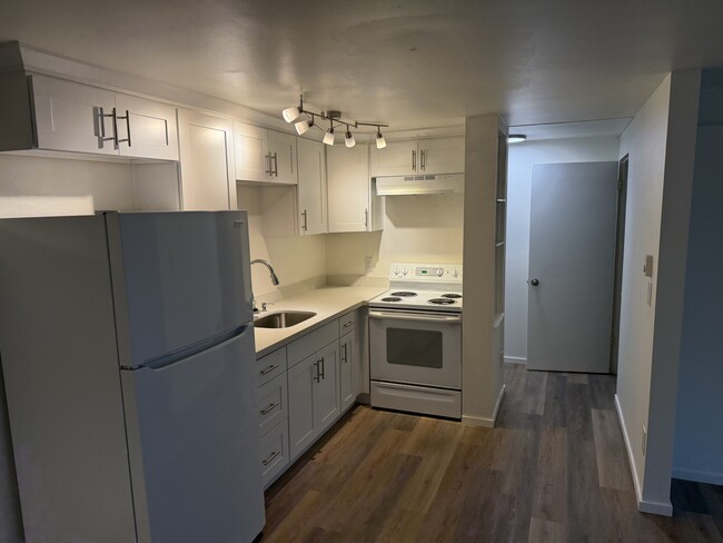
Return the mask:
[[(621, 138), (620, 155), (630, 155), (630, 170), (616, 404), (638, 507), (660, 514), (672, 512), (670, 480), (699, 80), (699, 71), (665, 78)], [(652, 278), (643, 274), (645, 255), (653, 255)]]

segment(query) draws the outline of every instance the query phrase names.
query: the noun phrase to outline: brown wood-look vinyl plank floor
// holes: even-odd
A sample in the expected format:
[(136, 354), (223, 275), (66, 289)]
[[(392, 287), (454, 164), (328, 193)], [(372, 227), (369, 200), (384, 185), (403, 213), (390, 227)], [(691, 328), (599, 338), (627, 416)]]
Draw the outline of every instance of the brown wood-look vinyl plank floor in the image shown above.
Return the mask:
[(494, 428), (358, 405), (266, 492), (263, 542), (723, 543), (723, 487), (640, 513), (615, 377), (505, 365)]

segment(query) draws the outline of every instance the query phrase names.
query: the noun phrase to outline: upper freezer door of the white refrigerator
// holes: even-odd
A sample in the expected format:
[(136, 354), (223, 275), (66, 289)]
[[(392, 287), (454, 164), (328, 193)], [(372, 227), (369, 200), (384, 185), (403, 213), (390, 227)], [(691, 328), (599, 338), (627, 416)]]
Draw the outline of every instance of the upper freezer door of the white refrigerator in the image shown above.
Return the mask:
[(107, 214), (120, 365), (252, 318), (246, 211)]

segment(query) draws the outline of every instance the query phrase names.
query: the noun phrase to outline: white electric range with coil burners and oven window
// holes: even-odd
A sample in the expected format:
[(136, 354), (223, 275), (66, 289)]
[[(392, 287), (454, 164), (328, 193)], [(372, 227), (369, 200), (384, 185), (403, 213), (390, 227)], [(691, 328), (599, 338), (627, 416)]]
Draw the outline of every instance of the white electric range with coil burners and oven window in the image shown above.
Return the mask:
[(369, 300), (374, 407), (462, 417), (462, 265), (396, 263)]

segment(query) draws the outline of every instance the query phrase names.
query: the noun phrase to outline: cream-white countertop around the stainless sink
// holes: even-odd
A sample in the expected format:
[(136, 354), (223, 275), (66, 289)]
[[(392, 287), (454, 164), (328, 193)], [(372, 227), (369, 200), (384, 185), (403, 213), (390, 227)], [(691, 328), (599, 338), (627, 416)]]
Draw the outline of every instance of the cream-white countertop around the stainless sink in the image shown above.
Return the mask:
[(255, 328), (256, 356), (261, 357), (283, 347), (329, 320), (365, 305), (386, 289), (387, 287), (325, 287), (275, 302), (259, 316), (284, 310), (314, 312), (316, 315), (288, 328)]

